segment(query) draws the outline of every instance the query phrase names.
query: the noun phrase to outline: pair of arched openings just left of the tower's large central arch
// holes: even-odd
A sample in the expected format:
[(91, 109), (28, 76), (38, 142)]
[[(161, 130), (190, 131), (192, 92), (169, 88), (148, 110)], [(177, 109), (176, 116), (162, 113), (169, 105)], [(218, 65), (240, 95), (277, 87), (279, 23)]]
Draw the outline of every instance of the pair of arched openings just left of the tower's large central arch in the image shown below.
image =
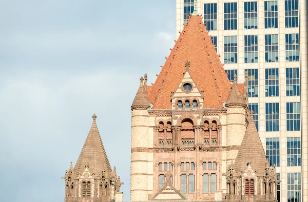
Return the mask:
[(159, 122), (158, 126), (158, 146), (172, 146), (171, 122)]

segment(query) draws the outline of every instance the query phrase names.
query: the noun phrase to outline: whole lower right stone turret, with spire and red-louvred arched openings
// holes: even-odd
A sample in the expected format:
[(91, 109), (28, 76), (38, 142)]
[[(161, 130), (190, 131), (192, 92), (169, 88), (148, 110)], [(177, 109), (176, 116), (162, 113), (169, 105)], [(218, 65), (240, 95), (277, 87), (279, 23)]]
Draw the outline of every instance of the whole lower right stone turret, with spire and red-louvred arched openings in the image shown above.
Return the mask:
[(242, 140), (235, 164), (226, 172), (227, 201), (277, 201), (275, 167), (270, 167), (258, 134), (253, 112)]

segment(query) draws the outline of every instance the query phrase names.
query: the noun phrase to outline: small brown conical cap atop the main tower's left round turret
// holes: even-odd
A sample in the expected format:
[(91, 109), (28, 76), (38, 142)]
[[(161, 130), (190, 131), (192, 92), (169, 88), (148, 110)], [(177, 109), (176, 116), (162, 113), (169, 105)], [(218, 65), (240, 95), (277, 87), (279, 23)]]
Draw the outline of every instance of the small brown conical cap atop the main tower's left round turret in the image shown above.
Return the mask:
[(131, 109), (147, 109), (150, 107), (149, 98), (143, 85), (143, 77), (140, 78), (140, 86), (135, 98), (133, 99)]

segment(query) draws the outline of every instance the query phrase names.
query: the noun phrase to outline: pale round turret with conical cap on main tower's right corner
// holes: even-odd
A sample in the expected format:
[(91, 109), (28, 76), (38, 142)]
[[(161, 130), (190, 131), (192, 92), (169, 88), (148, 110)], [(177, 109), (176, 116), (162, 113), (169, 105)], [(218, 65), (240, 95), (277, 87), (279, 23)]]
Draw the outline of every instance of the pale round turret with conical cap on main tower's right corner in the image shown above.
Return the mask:
[(246, 103), (234, 75), (234, 84), (227, 102), (227, 163), (234, 162), (246, 130)]

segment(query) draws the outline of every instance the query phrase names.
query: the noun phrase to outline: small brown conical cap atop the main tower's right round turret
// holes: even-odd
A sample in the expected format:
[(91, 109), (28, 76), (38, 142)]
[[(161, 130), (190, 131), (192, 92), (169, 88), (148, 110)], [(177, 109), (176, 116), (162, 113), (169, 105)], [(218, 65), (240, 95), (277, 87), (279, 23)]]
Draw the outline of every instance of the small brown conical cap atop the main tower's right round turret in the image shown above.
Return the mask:
[(226, 102), (226, 107), (234, 107), (234, 106), (245, 107), (245, 101), (239, 89), (236, 74), (234, 75), (234, 83)]

